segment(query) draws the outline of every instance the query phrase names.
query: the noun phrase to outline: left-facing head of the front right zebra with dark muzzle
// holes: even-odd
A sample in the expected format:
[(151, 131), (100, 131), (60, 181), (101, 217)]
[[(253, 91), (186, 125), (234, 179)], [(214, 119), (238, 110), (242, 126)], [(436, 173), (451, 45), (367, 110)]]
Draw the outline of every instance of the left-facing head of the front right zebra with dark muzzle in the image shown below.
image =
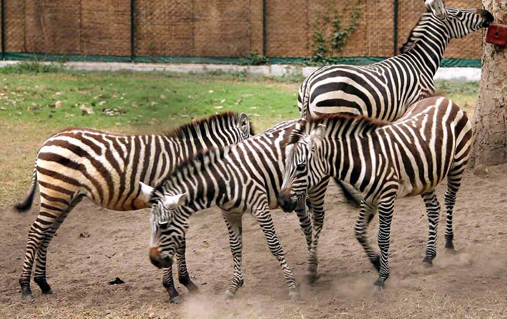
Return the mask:
[(285, 148), (285, 175), (278, 194), (278, 205), (285, 212), (292, 212), (308, 189), (325, 175), (318, 164), (323, 163), (319, 158), (325, 125), (310, 126), (301, 119)]

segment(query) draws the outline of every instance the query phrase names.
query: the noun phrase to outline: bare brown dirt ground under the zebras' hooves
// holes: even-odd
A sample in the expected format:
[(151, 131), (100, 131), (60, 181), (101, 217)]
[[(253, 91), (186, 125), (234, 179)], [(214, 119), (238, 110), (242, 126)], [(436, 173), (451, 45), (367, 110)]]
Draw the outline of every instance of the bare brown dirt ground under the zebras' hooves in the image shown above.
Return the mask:
[[(149, 210), (114, 212), (85, 200), (63, 223), (50, 245), (48, 281), (54, 295), (22, 301), (18, 275), (28, 227), (38, 213), (1, 212), (0, 317), (168, 317), (168, 318), (348, 318), (507, 317), (507, 165), (489, 177), (467, 172), (455, 214), (457, 254), (444, 252), (441, 214), (434, 266), (421, 265), (427, 219), (420, 197), (396, 201), (386, 289), (373, 287), (376, 272), (353, 235), (357, 211), (343, 203), (335, 185), (327, 194), (327, 216), (319, 246), (320, 278), (304, 281), (306, 244), (295, 215), (273, 211), (278, 236), (296, 275), (303, 300), (289, 301), (281, 268), (259, 226), (244, 217), (244, 286), (236, 297), (221, 294), (232, 275), (225, 223), (217, 209), (197, 213), (188, 233), (188, 266), (200, 293), (170, 305), (161, 270), (148, 259)], [(445, 187), (438, 194), (443, 205)], [(5, 206), (4, 206), (5, 207)], [(369, 228), (375, 240), (377, 218)], [(80, 237), (81, 232), (90, 234)], [(376, 244), (374, 245), (376, 247)], [(125, 284), (108, 285), (119, 276)]]

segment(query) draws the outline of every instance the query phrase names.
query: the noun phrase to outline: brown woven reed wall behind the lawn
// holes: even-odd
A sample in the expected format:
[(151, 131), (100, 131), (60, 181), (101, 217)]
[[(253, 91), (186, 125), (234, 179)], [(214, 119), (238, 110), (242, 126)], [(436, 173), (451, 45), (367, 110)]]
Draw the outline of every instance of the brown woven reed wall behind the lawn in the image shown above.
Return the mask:
[[(130, 55), (130, 0), (4, 0), (6, 52)], [(267, 1), (266, 55), (313, 54), (315, 28), (338, 14), (349, 24), (356, 0)], [(448, 0), (480, 8), (480, 0)], [(262, 0), (135, 0), (135, 55), (244, 57), (262, 52)], [(333, 56), (393, 54), (392, 0), (363, 0), (359, 23), (343, 52)], [(421, 13), (422, 0), (399, 2), (398, 47)], [(324, 29), (329, 39), (331, 24)], [(445, 57), (481, 57), (483, 32), (453, 39)]]

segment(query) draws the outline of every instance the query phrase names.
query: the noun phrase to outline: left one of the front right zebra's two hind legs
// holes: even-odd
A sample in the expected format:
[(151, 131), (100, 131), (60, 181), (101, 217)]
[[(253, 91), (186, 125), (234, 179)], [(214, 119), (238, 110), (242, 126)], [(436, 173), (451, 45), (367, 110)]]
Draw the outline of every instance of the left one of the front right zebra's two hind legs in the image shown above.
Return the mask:
[(422, 262), (431, 266), (433, 264), (433, 259), (437, 256), (436, 241), (440, 216), (440, 204), (434, 190), (424, 193), (421, 196), (428, 215), (428, 243), (426, 246), (426, 254)]

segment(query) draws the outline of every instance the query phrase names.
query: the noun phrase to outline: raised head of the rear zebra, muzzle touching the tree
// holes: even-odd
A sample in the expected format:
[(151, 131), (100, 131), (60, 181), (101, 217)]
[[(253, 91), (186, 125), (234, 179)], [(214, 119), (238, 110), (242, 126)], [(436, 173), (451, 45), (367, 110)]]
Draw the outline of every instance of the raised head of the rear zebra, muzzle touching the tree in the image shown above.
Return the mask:
[(480, 28), (486, 28), (494, 20), (493, 15), (484, 9), (446, 8), (442, 0), (426, 0), (424, 5), (451, 38), (461, 38)]

